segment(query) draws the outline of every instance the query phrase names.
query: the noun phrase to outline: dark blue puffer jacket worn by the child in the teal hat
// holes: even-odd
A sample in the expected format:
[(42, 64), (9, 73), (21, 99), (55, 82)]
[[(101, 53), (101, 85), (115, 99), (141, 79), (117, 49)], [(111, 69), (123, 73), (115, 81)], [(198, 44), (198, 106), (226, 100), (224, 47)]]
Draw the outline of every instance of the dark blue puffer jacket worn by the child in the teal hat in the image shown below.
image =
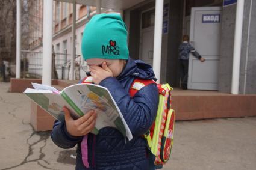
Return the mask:
[(118, 77), (108, 77), (99, 84), (108, 88), (112, 94), (133, 134), (133, 139), (128, 141), (118, 130), (111, 127), (99, 130), (98, 135), (89, 133), (90, 168), (86, 168), (81, 159), (80, 144), (83, 136), (71, 136), (67, 132), (65, 122), (55, 122), (51, 133), (52, 141), (61, 148), (78, 145), (76, 169), (149, 169), (146, 141), (140, 135), (149, 129), (157, 113), (158, 89), (153, 83), (143, 87), (131, 98), (129, 90), (136, 77), (154, 79), (152, 67), (129, 58)]

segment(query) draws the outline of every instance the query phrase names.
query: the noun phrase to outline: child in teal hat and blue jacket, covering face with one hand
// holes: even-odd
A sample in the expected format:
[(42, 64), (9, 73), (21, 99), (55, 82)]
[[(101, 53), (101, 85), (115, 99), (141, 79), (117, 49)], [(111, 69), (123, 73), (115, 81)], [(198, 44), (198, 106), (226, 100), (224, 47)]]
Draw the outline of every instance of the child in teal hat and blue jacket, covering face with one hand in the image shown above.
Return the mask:
[(76, 169), (149, 169), (152, 162), (141, 135), (151, 127), (157, 113), (158, 89), (151, 83), (130, 97), (134, 79), (152, 80), (155, 77), (150, 65), (129, 58), (126, 26), (120, 15), (92, 17), (84, 29), (82, 53), (93, 83), (108, 88), (133, 139), (126, 140), (112, 127), (105, 127), (98, 135), (93, 135), (89, 132), (95, 125), (95, 112), (73, 120), (64, 108), (65, 122), (54, 124), (52, 140), (61, 148), (77, 144)]

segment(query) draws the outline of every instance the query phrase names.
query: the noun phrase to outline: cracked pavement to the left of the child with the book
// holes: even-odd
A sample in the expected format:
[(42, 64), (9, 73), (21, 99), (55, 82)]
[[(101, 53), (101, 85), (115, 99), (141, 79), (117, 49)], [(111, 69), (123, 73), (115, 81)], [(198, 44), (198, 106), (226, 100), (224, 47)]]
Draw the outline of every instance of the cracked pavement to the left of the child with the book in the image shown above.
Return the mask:
[(75, 148), (63, 150), (50, 132), (34, 132), (30, 125), (30, 100), (22, 93), (7, 93), (10, 83), (0, 83), (0, 169), (75, 169)]

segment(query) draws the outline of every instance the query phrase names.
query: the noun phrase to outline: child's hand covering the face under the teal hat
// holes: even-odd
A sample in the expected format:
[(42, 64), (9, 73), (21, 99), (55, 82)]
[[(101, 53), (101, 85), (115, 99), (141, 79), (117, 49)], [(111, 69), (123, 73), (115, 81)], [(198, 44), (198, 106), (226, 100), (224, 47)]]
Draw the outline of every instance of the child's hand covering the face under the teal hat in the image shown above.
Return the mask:
[(113, 73), (108, 68), (106, 62), (102, 63), (102, 68), (98, 65), (92, 65), (90, 66), (91, 75), (93, 77), (93, 83), (98, 85), (102, 80), (104, 80), (107, 77), (113, 77)]

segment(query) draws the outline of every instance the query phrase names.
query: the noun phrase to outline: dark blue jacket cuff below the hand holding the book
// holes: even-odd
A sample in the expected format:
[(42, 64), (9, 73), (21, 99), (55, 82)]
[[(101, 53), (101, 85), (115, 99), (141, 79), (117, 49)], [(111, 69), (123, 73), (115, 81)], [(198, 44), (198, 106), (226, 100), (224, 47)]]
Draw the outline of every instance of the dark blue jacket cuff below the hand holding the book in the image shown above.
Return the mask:
[(81, 142), (83, 136), (72, 136), (67, 132), (65, 122), (55, 121), (51, 132), (51, 138), (54, 144), (60, 148), (68, 149), (75, 147), (78, 142)]

